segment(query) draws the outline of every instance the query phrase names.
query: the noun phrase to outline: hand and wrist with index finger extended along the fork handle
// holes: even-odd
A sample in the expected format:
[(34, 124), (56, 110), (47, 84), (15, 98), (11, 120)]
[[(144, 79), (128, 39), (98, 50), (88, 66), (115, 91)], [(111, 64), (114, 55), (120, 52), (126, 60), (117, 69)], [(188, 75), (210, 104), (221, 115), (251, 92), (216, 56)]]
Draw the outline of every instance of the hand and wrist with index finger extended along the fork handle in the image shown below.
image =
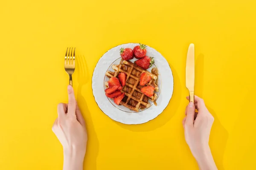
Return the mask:
[(52, 131), (63, 146), (63, 170), (82, 170), (87, 145), (87, 130), (71, 85), (68, 86), (67, 91), (68, 104), (58, 104), (58, 118), (52, 126)]

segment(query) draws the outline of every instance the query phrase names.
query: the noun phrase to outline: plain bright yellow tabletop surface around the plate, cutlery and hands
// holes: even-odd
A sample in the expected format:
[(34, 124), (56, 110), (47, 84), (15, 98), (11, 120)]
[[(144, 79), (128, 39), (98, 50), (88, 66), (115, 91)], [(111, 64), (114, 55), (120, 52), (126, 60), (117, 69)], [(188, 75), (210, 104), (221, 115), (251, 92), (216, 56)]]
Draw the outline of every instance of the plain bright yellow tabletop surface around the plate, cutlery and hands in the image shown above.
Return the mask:
[[(0, 10), (0, 170), (60, 170), (51, 127), (67, 102), (66, 48), (87, 122), (86, 170), (197, 170), (182, 119), (186, 52), (195, 44), (195, 93), (215, 117), (210, 147), (220, 170), (256, 169), (256, 1), (5, 0)], [(143, 125), (114, 122), (96, 105), (93, 69), (110, 48), (141, 42), (174, 75), (166, 110)], [(79, 67), (80, 65), (80, 67)]]

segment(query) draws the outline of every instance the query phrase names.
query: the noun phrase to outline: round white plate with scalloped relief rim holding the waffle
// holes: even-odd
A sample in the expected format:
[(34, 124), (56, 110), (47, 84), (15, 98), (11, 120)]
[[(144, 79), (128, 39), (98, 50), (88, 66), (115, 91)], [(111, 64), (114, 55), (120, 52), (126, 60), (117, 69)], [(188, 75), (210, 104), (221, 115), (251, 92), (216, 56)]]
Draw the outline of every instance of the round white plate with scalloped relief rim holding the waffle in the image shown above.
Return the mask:
[[(173, 93), (173, 76), (172, 70), (166, 61), (166, 59), (154, 48), (147, 46), (147, 56), (154, 57), (155, 65), (159, 71), (159, 92), (157, 92), (157, 106), (151, 103), (151, 106), (145, 110), (134, 112), (121, 105), (116, 105), (113, 100), (108, 99), (105, 96), (105, 81), (108, 81), (108, 77), (105, 77), (105, 73), (110, 70), (113, 71), (112, 65), (119, 64), (120, 48), (133, 49), (138, 43), (128, 43), (118, 45), (107, 51), (98, 61), (94, 71), (92, 79), (93, 96), (99, 108), (108, 115), (111, 119), (124, 124), (142, 124), (156, 118), (169, 104)], [(134, 62), (137, 59), (132, 59)], [(151, 67), (154, 68), (154, 65)], [(148, 71), (151, 71), (151, 68)]]

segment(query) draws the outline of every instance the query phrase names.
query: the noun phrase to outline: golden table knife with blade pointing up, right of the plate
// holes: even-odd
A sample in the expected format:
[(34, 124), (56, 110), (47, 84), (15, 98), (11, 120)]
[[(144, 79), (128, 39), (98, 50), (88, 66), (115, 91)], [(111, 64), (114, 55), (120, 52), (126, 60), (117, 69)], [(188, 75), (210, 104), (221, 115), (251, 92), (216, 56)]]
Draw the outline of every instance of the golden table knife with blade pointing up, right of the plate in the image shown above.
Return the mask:
[(189, 45), (186, 60), (186, 88), (189, 90), (189, 102), (194, 102), (195, 88), (195, 47), (194, 44)]

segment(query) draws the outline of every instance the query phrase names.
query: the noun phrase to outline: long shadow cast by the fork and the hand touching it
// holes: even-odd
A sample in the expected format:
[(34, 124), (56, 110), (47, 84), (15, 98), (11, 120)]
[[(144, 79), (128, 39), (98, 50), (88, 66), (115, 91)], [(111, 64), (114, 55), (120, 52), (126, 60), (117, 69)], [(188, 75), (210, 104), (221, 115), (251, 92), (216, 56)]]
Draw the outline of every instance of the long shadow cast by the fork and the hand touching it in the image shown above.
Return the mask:
[[(81, 112), (86, 115), (84, 116), (85, 122), (87, 124), (88, 129), (88, 143), (87, 143), (87, 151), (85, 155), (85, 161), (87, 162), (87, 168), (90, 170), (96, 170), (96, 160), (99, 153), (99, 140), (97, 138), (96, 132), (93, 127), (93, 121), (91, 118), (91, 113), (88, 109), (87, 102), (84, 99), (84, 96), (82, 96), (82, 87), (87, 84), (88, 80), (90, 79), (88, 75), (88, 67), (87, 62), (85, 60), (84, 56), (78, 55), (77, 60), (78, 66), (78, 91), (77, 91), (77, 102), (80, 107)], [(86, 159), (89, 159), (90, 157), (90, 163), (89, 161), (86, 161)], [(84, 166), (85, 167), (85, 166)]]

